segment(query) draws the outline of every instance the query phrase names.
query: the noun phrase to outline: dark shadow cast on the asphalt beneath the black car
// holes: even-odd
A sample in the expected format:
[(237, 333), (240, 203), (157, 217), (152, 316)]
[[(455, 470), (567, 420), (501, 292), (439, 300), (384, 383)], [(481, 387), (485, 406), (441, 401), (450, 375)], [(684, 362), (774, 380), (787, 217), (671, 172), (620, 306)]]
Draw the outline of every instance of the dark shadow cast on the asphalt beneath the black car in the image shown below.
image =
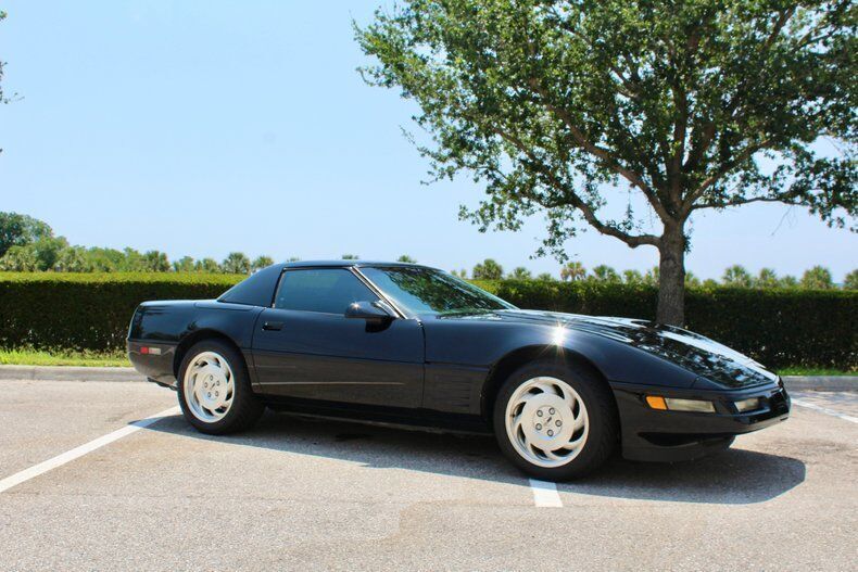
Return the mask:
[[(501, 454), (490, 435), (444, 433), (266, 411), (252, 430), (238, 435), (199, 433), (180, 416), (147, 430), (214, 443), (280, 450), (355, 462), (527, 486), (527, 478)], [(734, 445), (735, 447), (735, 445)], [(741, 448), (677, 463), (633, 462), (618, 455), (595, 473), (558, 483), (579, 495), (746, 505), (762, 503), (805, 480), (798, 459)]]

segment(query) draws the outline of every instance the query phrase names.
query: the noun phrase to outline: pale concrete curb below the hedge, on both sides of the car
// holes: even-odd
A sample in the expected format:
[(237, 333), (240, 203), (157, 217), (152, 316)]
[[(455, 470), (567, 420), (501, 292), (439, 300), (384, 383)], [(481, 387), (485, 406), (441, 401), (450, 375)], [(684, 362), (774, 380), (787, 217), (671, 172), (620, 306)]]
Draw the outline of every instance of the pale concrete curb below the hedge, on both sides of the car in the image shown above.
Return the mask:
[[(146, 381), (134, 368), (0, 366), (0, 380)], [(858, 376), (784, 376), (788, 391), (858, 392)]]

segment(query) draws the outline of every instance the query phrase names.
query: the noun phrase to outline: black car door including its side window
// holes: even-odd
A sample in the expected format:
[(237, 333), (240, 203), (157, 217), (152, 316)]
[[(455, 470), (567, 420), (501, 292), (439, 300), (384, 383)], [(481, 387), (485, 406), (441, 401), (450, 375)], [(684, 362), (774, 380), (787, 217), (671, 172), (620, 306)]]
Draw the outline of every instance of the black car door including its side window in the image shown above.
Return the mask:
[(416, 319), (382, 326), (346, 318), (378, 295), (349, 268), (289, 268), (256, 321), (253, 355), (264, 393), (301, 399), (419, 407), (424, 333)]

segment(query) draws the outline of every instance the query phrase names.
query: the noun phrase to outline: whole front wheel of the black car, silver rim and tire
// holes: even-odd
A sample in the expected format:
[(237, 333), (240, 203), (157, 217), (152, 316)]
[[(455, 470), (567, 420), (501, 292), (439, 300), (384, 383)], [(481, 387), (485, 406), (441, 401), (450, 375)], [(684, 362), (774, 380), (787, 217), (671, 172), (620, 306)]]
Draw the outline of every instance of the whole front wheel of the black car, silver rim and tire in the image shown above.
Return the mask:
[(619, 434), (610, 391), (577, 365), (533, 363), (518, 369), (501, 386), (493, 419), (504, 455), (548, 481), (598, 468)]

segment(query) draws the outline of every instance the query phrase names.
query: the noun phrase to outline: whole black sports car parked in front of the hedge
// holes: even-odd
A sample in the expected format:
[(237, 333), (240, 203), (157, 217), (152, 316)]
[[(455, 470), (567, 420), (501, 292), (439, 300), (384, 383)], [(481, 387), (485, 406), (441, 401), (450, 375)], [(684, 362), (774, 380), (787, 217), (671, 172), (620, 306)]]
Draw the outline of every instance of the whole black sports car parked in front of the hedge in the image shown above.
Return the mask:
[(790, 414), (775, 374), (702, 335), (522, 310), (407, 264), (277, 264), (217, 300), (146, 302), (128, 357), (177, 390), (204, 433), (247, 429), (266, 406), (488, 430), (550, 480), (618, 447), (639, 460), (699, 457)]

